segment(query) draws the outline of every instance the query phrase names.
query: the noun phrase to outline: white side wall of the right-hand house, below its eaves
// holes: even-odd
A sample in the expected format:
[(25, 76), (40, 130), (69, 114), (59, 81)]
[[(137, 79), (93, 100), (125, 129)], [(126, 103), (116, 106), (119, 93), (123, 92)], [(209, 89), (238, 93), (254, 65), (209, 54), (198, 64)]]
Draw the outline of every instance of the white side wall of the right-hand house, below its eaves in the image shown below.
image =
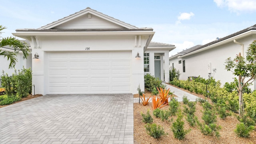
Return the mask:
[[(253, 37), (247, 37), (238, 42), (244, 44), (244, 53), (248, 45), (252, 43)], [(232, 72), (228, 72), (225, 69), (225, 60), (229, 57), (232, 59), (236, 57), (236, 54), (241, 52), (241, 46), (235, 44), (234, 42), (229, 42), (227, 44), (205, 50), (203, 52), (186, 56), (184, 58), (175, 58), (170, 60), (170, 66), (174, 63), (174, 68), (180, 70), (181, 76), (180, 80), (187, 80), (188, 76), (200, 76), (202, 78), (208, 78), (208, 63), (212, 64), (211, 73), (213, 78), (220, 80), (220, 82), (225, 84), (225, 82), (233, 82), (232, 78), (236, 77)], [(244, 54), (245, 55), (245, 54)], [(182, 71), (182, 63), (178, 64), (179, 60), (185, 60), (186, 72)], [(216, 68), (216, 72), (213, 72), (213, 68)], [(251, 86), (252, 89), (253, 86)]]

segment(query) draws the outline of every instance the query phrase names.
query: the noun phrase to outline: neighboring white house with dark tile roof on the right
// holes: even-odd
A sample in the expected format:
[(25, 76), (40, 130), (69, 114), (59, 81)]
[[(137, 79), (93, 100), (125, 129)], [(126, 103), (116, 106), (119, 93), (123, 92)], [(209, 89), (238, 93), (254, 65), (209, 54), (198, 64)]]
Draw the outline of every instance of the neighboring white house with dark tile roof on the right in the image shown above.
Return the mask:
[[(169, 58), (170, 66), (180, 70), (181, 80), (187, 80), (190, 76), (203, 78), (213, 77), (225, 84), (234, 81), (232, 72), (225, 69), (225, 60), (232, 59), (241, 52), (245, 56), (248, 46), (256, 40), (256, 25), (250, 26), (234, 34), (217, 38), (215, 41), (203, 46), (194, 46)], [(256, 89), (256, 84), (250, 87)]]

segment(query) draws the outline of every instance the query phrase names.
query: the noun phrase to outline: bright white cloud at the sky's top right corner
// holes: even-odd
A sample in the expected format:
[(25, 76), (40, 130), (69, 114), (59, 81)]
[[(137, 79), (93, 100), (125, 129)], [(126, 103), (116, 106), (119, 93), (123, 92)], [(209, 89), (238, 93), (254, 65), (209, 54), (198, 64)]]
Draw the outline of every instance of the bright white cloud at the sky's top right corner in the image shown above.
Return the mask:
[(218, 7), (228, 7), (231, 12), (255, 12), (256, 0), (214, 0)]

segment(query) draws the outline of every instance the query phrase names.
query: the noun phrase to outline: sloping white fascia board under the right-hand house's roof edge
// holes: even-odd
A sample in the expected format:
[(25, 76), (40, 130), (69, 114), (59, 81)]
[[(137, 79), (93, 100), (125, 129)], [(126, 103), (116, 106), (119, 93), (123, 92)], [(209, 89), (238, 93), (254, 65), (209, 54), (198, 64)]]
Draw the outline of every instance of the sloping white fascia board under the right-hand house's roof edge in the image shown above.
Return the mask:
[(237, 40), (237, 39), (240, 39), (240, 38), (245, 38), (246, 36), (249, 36), (249, 35), (252, 35), (252, 34), (256, 34), (256, 31), (255, 31), (255, 30), (249, 30), (249, 31), (247, 31), (247, 32), (244, 32), (244, 33), (242, 33), (242, 34), (238, 34), (238, 35), (233, 36), (233, 37), (231, 37), (231, 38), (228, 38), (228, 39), (226, 39), (226, 40), (222, 40), (222, 41), (217, 42), (217, 43), (215, 43), (215, 44), (206, 46), (206, 47), (201, 48), (201, 49), (199, 49), (199, 50), (196, 50), (196, 51), (194, 51), (194, 52), (190, 52), (190, 53), (188, 53), (188, 54), (184, 54), (184, 55), (182, 55), (182, 56), (178, 56), (178, 58), (184, 58), (184, 57), (186, 57), (186, 56), (190, 56), (190, 55), (196, 54), (196, 53), (198, 53), (198, 52), (203, 52), (203, 51), (205, 51), (205, 50), (208, 50), (208, 49), (211, 49), (211, 48), (215, 48), (215, 47), (217, 47), (217, 46), (221, 46), (221, 45), (227, 44), (227, 43), (229, 43), (229, 42), (233, 42), (234, 39)]

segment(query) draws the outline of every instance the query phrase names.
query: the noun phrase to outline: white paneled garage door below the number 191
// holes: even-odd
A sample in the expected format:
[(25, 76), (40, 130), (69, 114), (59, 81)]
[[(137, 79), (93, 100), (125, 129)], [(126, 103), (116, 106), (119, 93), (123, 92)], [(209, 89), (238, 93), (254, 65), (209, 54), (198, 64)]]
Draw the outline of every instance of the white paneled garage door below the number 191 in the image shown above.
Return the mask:
[(131, 52), (47, 52), (48, 94), (131, 93)]

